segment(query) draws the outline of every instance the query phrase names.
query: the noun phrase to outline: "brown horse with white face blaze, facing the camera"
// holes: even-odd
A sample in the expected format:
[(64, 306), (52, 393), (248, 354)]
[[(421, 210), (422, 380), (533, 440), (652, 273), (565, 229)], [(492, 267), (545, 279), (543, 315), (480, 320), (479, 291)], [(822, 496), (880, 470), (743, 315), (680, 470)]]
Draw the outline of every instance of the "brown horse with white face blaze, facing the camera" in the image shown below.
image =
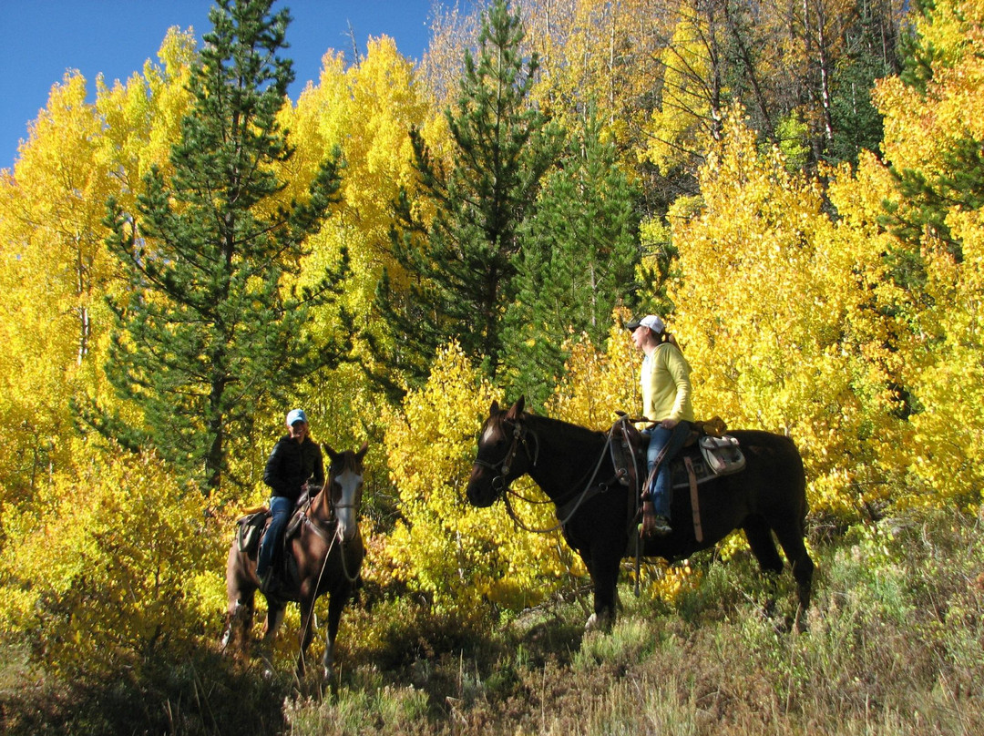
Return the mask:
[[(297, 674), (304, 674), (304, 655), (314, 636), (314, 603), (321, 595), (330, 596), (325, 644), (324, 673), (328, 677), (335, 655), (335, 637), (345, 603), (352, 596), (365, 554), (358, 526), (362, 502), (362, 460), (367, 443), (358, 452), (336, 453), (324, 446), (331, 464), (325, 488), (303, 506), (303, 519), (296, 533), (289, 535), (285, 554), (289, 558), (288, 580), (267, 595), (267, 626), (263, 637), (264, 656), (272, 661), (277, 629), (283, 621), (287, 602), (300, 604), (300, 651)], [(293, 523), (291, 523), (291, 527)], [(256, 577), (258, 541), (245, 549), (239, 534), (232, 540), (225, 565), (225, 589), (229, 607), (222, 647), (235, 647), (247, 641), (253, 626), (254, 596), (260, 586)], [(290, 561), (292, 560), (292, 562)]]

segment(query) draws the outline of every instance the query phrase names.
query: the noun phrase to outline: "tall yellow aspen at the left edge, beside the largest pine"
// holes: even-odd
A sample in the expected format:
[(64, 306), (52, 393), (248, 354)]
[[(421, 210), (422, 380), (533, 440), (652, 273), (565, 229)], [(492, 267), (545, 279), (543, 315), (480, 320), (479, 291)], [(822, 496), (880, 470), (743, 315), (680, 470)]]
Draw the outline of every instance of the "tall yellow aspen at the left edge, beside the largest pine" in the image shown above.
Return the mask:
[(95, 341), (111, 262), (102, 239), (115, 183), (99, 165), (102, 122), (86, 80), (66, 75), (31, 124), (12, 175), (0, 182), (0, 433), (4, 485), (32, 498), (67, 460), (69, 399)]

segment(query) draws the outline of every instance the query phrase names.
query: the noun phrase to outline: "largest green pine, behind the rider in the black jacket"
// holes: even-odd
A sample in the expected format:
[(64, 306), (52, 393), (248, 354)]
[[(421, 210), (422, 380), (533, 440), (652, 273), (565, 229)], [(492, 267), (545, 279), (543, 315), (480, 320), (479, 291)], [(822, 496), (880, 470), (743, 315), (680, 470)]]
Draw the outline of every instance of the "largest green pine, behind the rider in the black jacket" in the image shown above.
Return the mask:
[(333, 157), (305, 201), (277, 205), (277, 167), (293, 154), (277, 111), (293, 71), (277, 55), (290, 17), (271, 15), (272, 4), (218, 0), (173, 173), (147, 175), (135, 214), (108, 204), (107, 242), (128, 289), (112, 304), (106, 371), (144, 421), (103, 416), (97, 426), (131, 446), (153, 445), (204, 491), (219, 486), (232, 448), (256, 440), (258, 408), (340, 350), (305, 331), (309, 310), (333, 298), (338, 274), (301, 292), (286, 285), (338, 201), (339, 177)]

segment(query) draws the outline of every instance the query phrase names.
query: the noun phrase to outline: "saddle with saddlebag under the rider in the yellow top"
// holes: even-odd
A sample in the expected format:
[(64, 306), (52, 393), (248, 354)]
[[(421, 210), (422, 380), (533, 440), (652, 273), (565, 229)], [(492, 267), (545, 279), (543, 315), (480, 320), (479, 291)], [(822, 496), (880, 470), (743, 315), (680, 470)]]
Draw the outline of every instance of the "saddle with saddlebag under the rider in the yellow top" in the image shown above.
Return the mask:
[[(648, 477), (643, 477), (641, 468), (646, 467), (648, 442), (636, 423), (646, 421), (646, 419), (632, 419), (620, 412), (619, 418), (612, 426), (610, 443), (616, 477), (632, 491), (636, 499), (636, 508), (630, 523), (636, 525), (643, 521), (641, 528), (646, 528), (647, 519), (651, 520), (654, 516), (652, 502), (644, 498), (643, 493), (658, 468), (657, 465)], [(690, 489), (694, 534), (699, 542), (703, 541), (704, 532), (701, 525), (698, 486), (720, 475), (739, 472), (745, 467), (745, 457), (742, 455), (738, 440), (725, 434), (726, 430), (727, 426), (719, 416), (714, 416), (707, 421), (694, 422), (683, 448), (670, 463), (672, 487)]]

